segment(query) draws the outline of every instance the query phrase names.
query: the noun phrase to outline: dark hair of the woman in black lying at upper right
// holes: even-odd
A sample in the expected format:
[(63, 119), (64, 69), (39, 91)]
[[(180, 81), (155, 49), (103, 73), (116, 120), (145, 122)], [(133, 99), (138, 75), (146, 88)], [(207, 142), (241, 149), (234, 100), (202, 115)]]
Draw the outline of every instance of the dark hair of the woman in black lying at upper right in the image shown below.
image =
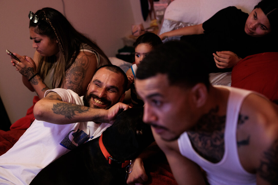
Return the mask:
[(277, 18), (278, 18), (278, 1), (277, 0), (262, 0), (260, 1), (255, 7), (260, 8), (264, 12), (264, 14), (267, 16), (271, 32), (275, 32), (277, 34), (278, 31), (278, 24), (277, 24)]

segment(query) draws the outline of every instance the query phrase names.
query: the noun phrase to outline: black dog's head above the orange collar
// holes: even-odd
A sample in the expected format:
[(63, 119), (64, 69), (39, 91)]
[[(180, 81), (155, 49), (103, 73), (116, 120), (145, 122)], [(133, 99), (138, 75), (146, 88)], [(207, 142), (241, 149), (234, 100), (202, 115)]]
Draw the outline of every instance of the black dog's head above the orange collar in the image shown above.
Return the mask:
[[(134, 158), (153, 141), (150, 125), (143, 122), (143, 107), (125, 110), (103, 132), (103, 143), (112, 156)], [(112, 148), (112, 149), (110, 149)]]

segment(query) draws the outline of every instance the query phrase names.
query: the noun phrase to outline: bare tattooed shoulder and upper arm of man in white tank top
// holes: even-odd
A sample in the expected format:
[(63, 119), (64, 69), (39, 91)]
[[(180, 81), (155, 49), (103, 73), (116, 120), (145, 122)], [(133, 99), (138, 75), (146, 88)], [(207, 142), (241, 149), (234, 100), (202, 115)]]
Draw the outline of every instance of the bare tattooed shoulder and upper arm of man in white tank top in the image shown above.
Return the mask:
[(277, 172), (274, 167), (278, 165), (277, 141), (278, 106), (260, 95), (250, 94), (240, 110), (237, 144), (242, 166), (257, 173), (260, 181), (275, 181), (269, 174)]

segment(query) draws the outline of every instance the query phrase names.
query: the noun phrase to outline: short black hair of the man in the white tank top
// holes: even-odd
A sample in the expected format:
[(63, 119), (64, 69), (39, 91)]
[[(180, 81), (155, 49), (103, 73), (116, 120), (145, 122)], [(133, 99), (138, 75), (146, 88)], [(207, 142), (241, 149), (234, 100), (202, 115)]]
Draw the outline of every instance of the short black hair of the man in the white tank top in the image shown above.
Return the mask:
[(198, 50), (187, 42), (165, 42), (153, 49), (138, 65), (136, 79), (144, 80), (157, 74), (165, 74), (170, 85), (182, 88), (203, 83), (209, 89), (206, 64), (197, 55)]

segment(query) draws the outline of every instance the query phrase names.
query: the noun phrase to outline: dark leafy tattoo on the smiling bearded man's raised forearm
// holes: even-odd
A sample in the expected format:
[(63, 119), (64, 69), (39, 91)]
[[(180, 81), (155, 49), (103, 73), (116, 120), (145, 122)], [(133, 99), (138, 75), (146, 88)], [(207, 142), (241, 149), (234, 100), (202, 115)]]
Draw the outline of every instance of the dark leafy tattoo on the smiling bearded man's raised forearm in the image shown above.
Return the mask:
[(76, 115), (76, 113), (89, 111), (89, 107), (69, 103), (57, 103), (56, 105), (53, 105), (52, 110), (55, 114), (64, 115), (65, 118), (71, 119)]

